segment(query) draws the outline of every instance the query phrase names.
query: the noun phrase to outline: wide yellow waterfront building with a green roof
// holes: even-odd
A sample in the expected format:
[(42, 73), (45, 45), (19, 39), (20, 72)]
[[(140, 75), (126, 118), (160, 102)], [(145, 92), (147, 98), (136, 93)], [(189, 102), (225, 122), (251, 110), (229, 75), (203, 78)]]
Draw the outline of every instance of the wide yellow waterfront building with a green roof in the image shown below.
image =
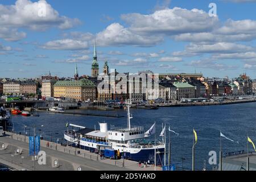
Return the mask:
[(76, 101), (96, 100), (96, 85), (86, 78), (57, 81), (53, 88), (54, 97), (73, 98)]

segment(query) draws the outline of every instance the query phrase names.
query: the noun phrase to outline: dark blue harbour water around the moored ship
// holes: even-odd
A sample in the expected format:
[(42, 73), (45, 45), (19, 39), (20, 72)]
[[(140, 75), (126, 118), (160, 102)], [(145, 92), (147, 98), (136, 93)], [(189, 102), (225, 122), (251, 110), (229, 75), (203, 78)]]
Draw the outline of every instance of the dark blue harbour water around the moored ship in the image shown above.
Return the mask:
[[(74, 110), (82, 113), (109, 113), (125, 115), (124, 118), (90, 117), (83, 115), (67, 115), (57, 113), (38, 113), (40, 117), (22, 117), (13, 115), (15, 133), (24, 133), (24, 125), (28, 126), (26, 131), (29, 134), (29, 127), (37, 125), (36, 133), (41, 134), (44, 139), (57, 141), (63, 139), (65, 124), (99, 128), (98, 122), (108, 122), (108, 125), (126, 126), (126, 111), (97, 111), (97, 110)], [(162, 123), (166, 123), (167, 129), (179, 133), (179, 137), (171, 134), (171, 161), (177, 166), (181, 166), (181, 158), (185, 158), (184, 167), (191, 169), (192, 166), (192, 144), (193, 128), (197, 132), (198, 141), (195, 147), (196, 169), (201, 170), (204, 160), (207, 160), (207, 169), (212, 166), (208, 164), (209, 151), (220, 150), (220, 131), (226, 137), (239, 141), (239, 144), (230, 142), (222, 138), (223, 152), (238, 150), (247, 151), (247, 134), (256, 142), (256, 103), (218, 105), (218, 106), (197, 106), (197, 107), (162, 107), (159, 110), (131, 109), (133, 119), (131, 125), (144, 126), (144, 130), (149, 129), (156, 122), (156, 136), (162, 130)], [(43, 127), (40, 127), (44, 125)], [(41, 131), (40, 131), (41, 130)], [(32, 135), (32, 129), (31, 129)], [(169, 133), (167, 133), (169, 136)], [(154, 140), (154, 136), (151, 138)], [(158, 139), (162, 139), (158, 137)], [(168, 138), (167, 138), (168, 142)], [(167, 146), (168, 147), (168, 146)], [(251, 147), (251, 150), (253, 148)], [(218, 157), (218, 156), (217, 156)], [(218, 158), (217, 158), (218, 163)]]

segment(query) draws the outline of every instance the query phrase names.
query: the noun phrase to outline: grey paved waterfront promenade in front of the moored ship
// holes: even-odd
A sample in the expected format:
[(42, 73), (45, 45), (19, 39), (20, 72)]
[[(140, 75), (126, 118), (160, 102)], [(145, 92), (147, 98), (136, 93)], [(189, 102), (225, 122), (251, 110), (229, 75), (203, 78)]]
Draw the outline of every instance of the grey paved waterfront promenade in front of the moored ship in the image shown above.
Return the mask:
[[(46, 152), (46, 165), (39, 165), (36, 161), (35, 168), (38, 171), (77, 171), (78, 167), (82, 171), (154, 171), (154, 167), (139, 168), (137, 162), (130, 160), (125, 160), (123, 167), (123, 159), (100, 159), (97, 154), (79, 148), (64, 147), (52, 142), (47, 147), (47, 142), (40, 142), (40, 150)], [(33, 158), (28, 156), (28, 137), (6, 132), (5, 137), (0, 137), (0, 147), (2, 144), (5, 144), (5, 149), (0, 150), (0, 163), (16, 170), (34, 170)], [(17, 148), (21, 154), (16, 154)], [(54, 167), (55, 160), (59, 161), (59, 167)], [(157, 167), (157, 170), (162, 169)]]

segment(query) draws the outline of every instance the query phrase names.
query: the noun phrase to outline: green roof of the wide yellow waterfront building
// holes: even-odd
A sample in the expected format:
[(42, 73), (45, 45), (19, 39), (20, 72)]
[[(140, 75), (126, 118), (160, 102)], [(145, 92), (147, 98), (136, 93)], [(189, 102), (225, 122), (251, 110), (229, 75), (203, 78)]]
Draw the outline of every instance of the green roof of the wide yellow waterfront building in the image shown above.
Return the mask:
[(95, 86), (92, 81), (87, 80), (85, 78), (81, 80), (66, 80), (66, 81), (57, 81), (54, 86)]

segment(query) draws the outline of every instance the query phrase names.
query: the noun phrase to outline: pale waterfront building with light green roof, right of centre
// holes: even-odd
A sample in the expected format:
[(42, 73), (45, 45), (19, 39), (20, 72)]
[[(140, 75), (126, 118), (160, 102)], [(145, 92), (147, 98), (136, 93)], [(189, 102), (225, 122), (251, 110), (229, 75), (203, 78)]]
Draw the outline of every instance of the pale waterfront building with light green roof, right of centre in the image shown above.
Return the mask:
[(177, 100), (181, 98), (195, 98), (195, 86), (188, 84), (188, 82), (174, 82), (177, 88)]

